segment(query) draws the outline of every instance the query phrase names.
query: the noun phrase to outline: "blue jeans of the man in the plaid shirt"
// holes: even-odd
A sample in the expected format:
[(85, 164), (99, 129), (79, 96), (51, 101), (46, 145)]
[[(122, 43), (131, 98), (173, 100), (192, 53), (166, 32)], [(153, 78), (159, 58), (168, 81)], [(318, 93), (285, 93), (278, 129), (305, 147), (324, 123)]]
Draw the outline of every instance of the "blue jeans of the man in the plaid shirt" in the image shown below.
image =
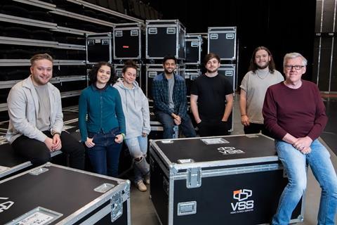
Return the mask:
[[(173, 127), (176, 125), (173, 121), (173, 117), (171, 117), (171, 115), (167, 113), (163, 113), (160, 111), (156, 111), (155, 114), (159, 122), (163, 124), (163, 139), (172, 139), (174, 134)], [(181, 131), (183, 131), (183, 134), (187, 138), (197, 135), (192, 125), (191, 119), (188, 115), (186, 120), (183, 120), (183, 118), (181, 118), (181, 124), (179, 125), (179, 128), (181, 129)]]

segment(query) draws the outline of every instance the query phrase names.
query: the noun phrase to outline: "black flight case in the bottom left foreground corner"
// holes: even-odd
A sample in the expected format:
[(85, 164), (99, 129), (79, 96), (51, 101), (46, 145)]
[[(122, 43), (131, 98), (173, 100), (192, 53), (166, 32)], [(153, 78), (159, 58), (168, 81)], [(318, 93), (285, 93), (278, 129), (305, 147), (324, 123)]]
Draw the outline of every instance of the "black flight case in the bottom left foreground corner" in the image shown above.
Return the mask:
[(131, 224), (130, 181), (50, 162), (0, 181), (0, 224)]

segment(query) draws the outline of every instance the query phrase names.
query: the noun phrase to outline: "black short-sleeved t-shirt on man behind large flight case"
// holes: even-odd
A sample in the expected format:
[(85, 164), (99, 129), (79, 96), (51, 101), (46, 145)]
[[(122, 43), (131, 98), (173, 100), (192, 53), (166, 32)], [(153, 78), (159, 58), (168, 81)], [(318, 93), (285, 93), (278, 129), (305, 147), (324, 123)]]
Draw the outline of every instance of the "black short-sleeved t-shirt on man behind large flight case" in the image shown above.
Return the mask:
[(232, 84), (224, 75), (194, 80), (191, 94), (198, 96), (198, 111), (201, 120), (221, 120), (225, 113), (226, 95), (233, 93)]

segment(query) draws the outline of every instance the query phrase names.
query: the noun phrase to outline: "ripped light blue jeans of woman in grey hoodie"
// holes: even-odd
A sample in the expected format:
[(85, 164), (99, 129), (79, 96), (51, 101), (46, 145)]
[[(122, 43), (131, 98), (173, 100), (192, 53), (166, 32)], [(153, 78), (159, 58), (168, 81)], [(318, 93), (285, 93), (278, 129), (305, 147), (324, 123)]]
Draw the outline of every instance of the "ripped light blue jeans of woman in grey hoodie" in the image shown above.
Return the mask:
[(126, 139), (126, 146), (128, 146), (128, 151), (134, 159), (142, 158), (140, 161), (135, 160), (135, 167), (133, 171), (135, 173), (135, 183), (143, 179), (144, 175), (148, 175), (150, 172), (150, 165), (146, 162), (147, 153), (147, 136), (137, 136), (135, 138)]

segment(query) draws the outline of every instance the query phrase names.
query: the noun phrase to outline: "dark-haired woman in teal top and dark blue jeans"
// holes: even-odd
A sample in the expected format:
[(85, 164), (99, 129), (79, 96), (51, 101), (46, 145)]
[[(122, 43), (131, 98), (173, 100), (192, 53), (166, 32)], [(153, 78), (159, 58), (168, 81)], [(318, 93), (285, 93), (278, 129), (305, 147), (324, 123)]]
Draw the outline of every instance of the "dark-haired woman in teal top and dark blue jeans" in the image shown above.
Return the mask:
[(112, 65), (100, 62), (89, 72), (91, 86), (79, 97), (79, 131), (88, 157), (98, 174), (117, 176), (125, 118), (121, 96), (112, 87)]

